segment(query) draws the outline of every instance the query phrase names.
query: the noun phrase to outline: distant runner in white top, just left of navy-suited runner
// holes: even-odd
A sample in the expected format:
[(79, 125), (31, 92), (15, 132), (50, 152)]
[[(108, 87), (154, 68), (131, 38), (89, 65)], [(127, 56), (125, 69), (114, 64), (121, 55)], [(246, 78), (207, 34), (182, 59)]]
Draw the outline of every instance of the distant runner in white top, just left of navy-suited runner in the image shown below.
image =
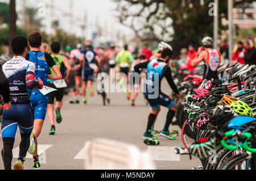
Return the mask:
[(80, 65), (80, 57), (81, 57), (81, 48), (82, 45), (79, 43), (76, 45), (76, 49), (71, 50), (70, 59), (73, 65), (75, 65), (75, 85), (76, 92), (73, 92), (71, 96), (80, 95), (80, 87), (82, 85), (82, 68)]

